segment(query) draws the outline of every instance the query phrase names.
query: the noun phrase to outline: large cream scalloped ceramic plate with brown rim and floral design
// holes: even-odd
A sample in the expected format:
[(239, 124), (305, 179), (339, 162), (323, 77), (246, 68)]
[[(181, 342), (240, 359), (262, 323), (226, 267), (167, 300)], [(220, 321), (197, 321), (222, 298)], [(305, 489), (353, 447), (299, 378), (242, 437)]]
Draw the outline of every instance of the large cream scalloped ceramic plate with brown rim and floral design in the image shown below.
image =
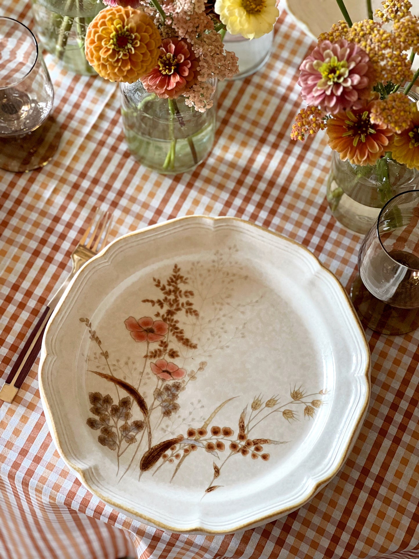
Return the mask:
[(192, 216), (85, 264), (47, 327), (40, 390), (61, 456), (116, 509), (228, 533), (329, 481), (369, 400), (347, 296), (301, 245)]

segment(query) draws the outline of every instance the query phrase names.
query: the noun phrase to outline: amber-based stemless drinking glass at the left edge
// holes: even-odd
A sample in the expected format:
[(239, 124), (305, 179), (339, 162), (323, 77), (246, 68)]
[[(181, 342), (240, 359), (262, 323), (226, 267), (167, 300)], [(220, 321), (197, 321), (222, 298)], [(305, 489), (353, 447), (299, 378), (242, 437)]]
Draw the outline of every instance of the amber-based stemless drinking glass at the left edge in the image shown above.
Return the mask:
[(53, 84), (34, 34), (23, 23), (0, 17), (0, 167), (42, 167), (59, 143), (50, 116)]

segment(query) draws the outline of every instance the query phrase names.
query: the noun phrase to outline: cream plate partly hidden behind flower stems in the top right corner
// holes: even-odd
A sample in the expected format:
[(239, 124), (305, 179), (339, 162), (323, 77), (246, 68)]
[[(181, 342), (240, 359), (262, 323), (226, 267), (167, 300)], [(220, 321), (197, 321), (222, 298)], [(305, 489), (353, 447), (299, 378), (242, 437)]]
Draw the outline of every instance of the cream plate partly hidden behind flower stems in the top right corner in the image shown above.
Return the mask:
[[(366, 0), (344, 0), (344, 2), (352, 21), (360, 21), (368, 17)], [(411, 12), (417, 15), (419, 0), (411, 0), (411, 3)], [(336, 0), (282, 0), (281, 4), (297, 25), (313, 39), (317, 39), (323, 31), (328, 31), (333, 23), (343, 20)], [(372, 6), (373, 10), (382, 8), (381, 0), (372, 0)]]

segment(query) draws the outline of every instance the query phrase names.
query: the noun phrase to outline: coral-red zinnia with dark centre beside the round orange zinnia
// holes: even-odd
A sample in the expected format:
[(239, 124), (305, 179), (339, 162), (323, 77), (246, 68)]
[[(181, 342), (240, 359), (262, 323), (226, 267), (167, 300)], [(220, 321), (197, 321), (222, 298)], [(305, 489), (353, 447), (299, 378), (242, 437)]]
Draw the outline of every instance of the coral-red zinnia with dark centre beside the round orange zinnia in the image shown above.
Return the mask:
[(196, 82), (197, 68), (198, 60), (187, 41), (163, 39), (156, 67), (141, 81), (146, 91), (174, 99)]

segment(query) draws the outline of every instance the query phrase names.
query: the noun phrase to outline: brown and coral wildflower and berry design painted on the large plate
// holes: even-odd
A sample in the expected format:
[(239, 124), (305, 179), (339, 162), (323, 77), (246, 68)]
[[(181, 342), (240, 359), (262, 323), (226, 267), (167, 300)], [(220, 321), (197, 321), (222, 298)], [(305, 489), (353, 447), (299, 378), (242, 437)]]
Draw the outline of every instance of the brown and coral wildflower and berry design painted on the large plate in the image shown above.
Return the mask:
[[(234, 247), (230, 249), (227, 257), (216, 253), (209, 268), (194, 264), (189, 270), (192, 280), (189, 280), (189, 273), (184, 275), (177, 264), (165, 281), (153, 278), (159, 295), (141, 302), (154, 309), (154, 316), (142, 316), (140, 319), (128, 316), (122, 326), (140, 349), (141, 364), (128, 367), (131, 382), (126, 375), (120, 377), (124, 376), (123, 367), (118, 359), (113, 363), (108, 351), (102, 348), (91, 320), (80, 318), (92, 342), (100, 350), (98, 358), (95, 354), (95, 358), (89, 361), (92, 365), (88, 367), (88, 372), (113, 385), (117, 396), (114, 403), (110, 394), (90, 392), (93, 417), (87, 419), (87, 425), (99, 430), (98, 442), (116, 453), (117, 475), (120, 458), (127, 453), (123, 458), (125, 470), (120, 480), (131, 468), (139, 470), (139, 480), (145, 472), (151, 472), (153, 476), (160, 472), (159, 475), (167, 476), (167, 473), (161, 472), (170, 468), (172, 482), (184, 461), (198, 451), (212, 456), (212, 479), (204, 491), (215, 491), (222, 487), (216, 484), (220, 482), (226, 463), (234, 456), (250, 456), (254, 460), (260, 457), (267, 462), (270, 453), (266, 447), (287, 443), (264, 436), (265, 424), (272, 425), (275, 417), (288, 422), (297, 420), (301, 406), (304, 406), (303, 418), (310, 420), (325, 403), (322, 396), (326, 391), (306, 395), (302, 386), (294, 386), (290, 388), (285, 404), (278, 395), (268, 399), (262, 395), (255, 397), (233, 422), (236, 427), (228, 424), (220, 427), (215, 422), (220, 411), (225, 406), (226, 410), (229, 409), (230, 402), (239, 397), (237, 395), (215, 405), (207, 419), (201, 420), (200, 427), (184, 419), (178, 423), (182, 433), (175, 435), (176, 431), (173, 433), (173, 430), (170, 432), (161, 426), (162, 421), (171, 416), (180, 417), (178, 414), (184, 402), (180, 395), (189, 390), (189, 382), (204, 374), (208, 364), (200, 361), (199, 366), (195, 365), (192, 369), (186, 363), (193, 365), (199, 355), (211, 357), (213, 352), (228, 348), (232, 339), (242, 337), (245, 320), (241, 320), (243, 326), (240, 329), (235, 325), (230, 328), (228, 319), (234, 318), (237, 312), (244, 315), (246, 305), (251, 307), (260, 299), (247, 302), (231, 300), (237, 282), (247, 281), (240, 263), (232, 260), (234, 250)], [(235, 266), (234, 271), (232, 266)], [(132, 359), (130, 363), (134, 363)]]

